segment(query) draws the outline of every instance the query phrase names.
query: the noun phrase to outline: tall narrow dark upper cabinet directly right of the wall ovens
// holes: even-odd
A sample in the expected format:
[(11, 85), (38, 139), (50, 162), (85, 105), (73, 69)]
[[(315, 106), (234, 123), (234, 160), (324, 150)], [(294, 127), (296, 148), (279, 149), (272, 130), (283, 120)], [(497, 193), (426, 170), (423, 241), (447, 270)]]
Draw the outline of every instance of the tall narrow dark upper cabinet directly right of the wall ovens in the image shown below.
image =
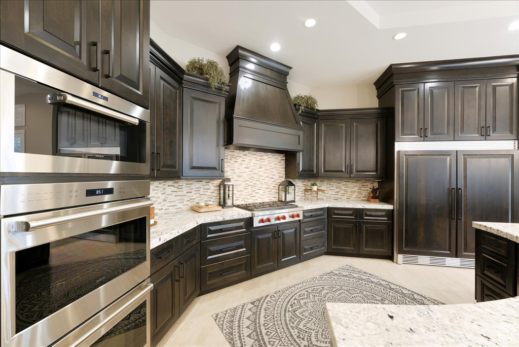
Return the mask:
[(150, 176), (180, 177), (184, 69), (150, 41)]

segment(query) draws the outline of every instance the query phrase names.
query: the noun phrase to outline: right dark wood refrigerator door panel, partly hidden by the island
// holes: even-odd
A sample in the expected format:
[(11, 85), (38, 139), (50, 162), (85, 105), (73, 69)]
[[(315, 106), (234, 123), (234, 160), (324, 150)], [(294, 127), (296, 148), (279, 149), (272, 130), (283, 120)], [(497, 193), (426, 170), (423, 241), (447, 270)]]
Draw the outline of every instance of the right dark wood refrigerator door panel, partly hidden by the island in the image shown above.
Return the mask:
[(518, 221), (518, 185), (517, 151), (458, 151), (458, 258), (474, 258), (473, 221)]

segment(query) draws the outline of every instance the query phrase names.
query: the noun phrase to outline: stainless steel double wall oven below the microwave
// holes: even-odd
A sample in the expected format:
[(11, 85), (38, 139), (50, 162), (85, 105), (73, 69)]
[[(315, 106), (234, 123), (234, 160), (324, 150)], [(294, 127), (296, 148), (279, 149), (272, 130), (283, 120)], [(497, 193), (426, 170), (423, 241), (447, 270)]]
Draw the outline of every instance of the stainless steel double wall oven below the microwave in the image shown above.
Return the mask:
[(148, 195), (143, 180), (0, 186), (2, 345), (149, 345)]

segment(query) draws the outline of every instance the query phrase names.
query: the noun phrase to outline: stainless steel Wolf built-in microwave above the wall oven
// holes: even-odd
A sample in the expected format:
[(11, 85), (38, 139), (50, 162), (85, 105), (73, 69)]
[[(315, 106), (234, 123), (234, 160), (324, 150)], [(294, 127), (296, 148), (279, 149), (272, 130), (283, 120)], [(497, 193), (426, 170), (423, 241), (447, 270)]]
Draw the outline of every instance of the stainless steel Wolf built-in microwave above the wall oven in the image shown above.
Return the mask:
[(0, 172), (147, 175), (149, 111), (0, 46)]

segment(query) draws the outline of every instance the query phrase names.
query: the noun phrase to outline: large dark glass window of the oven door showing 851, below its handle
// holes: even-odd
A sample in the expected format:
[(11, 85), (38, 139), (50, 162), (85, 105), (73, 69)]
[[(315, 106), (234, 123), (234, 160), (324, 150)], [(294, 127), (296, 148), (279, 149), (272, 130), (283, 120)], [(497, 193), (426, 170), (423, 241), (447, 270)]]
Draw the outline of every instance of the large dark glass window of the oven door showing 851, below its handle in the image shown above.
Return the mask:
[(146, 261), (146, 217), (16, 252), (16, 332)]

